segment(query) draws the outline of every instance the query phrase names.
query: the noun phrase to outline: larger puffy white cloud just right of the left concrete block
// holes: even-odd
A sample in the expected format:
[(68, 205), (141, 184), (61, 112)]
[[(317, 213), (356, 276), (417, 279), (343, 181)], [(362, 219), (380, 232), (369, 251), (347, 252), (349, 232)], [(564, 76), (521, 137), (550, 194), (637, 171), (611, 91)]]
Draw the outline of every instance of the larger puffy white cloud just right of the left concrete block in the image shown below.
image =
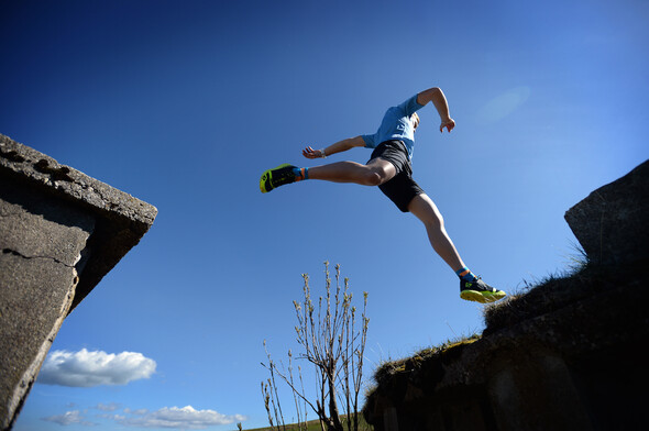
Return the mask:
[(151, 377), (155, 367), (155, 361), (135, 352), (54, 351), (41, 367), (37, 382), (72, 387), (125, 385)]

